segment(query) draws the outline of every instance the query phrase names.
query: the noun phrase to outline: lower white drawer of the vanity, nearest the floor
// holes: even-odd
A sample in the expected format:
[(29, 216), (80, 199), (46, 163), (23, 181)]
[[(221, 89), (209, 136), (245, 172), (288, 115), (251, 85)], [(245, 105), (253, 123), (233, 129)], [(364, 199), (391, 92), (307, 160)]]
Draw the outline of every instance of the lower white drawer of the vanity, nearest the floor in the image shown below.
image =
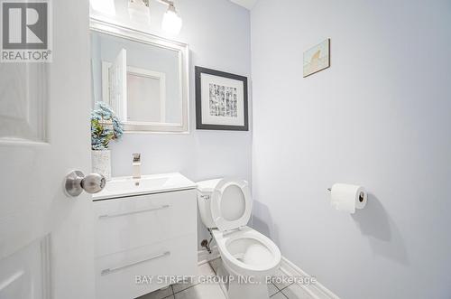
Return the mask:
[[(133, 299), (172, 284), (159, 284), (159, 276), (195, 276), (197, 270), (196, 234), (98, 257), (96, 298)], [(137, 284), (136, 276), (151, 276), (152, 283)]]

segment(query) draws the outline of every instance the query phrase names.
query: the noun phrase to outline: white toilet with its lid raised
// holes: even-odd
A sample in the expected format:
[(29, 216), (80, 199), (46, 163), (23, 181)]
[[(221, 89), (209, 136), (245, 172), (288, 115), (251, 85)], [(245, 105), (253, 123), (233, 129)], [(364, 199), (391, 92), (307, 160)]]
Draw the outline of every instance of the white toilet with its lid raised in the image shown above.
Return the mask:
[(248, 183), (233, 179), (198, 182), (198, 207), (231, 276), (228, 298), (269, 298), (266, 279), (280, 266), (281, 251), (270, 238), (246, 226), (252, 211)]

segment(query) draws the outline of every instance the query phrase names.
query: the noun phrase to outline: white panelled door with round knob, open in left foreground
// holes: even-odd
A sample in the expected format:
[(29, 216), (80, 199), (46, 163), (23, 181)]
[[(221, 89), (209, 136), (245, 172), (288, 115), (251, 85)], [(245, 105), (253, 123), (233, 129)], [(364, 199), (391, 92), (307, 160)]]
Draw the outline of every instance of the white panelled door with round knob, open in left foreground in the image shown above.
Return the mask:
[(0, 298), (94, 298), (87, 0), (53, 0), (53, 62), (0, 63)]

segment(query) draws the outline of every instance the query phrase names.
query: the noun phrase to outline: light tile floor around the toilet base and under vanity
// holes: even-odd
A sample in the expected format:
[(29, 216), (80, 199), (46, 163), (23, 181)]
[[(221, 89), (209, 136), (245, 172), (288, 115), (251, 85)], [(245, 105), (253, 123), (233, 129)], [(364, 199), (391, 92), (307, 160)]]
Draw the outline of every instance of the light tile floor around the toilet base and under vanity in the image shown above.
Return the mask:
[[(199, 275), (216, 276), (218, 267), (221, 265), (221, 259), (216, 258), (207, 264), (199, 266)], [(276, 276), (284, 276), (281, 270), (278, 270)], [(299, 285), (268, 285), (271, 299), (311, 299), (312, 297), (304, 291)], [(137, 299), (226, 299), (221, 286), (211, 283), (177, 284), (170, 285), (164, 290), (158, 290), (151, 294), (145, 294)]]

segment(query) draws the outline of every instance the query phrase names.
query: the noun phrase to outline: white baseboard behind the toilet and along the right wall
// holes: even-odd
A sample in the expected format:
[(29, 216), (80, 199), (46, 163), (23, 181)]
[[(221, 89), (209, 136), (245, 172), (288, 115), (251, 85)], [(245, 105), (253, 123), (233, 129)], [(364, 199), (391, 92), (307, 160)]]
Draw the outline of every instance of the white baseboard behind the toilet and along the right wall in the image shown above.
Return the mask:
[[(220, 257), (217, 246), (211, 248), (211, 253), (207, 250), (198, 250), (198, 265), (205, 264), (213, 259)], [(286, 257), (281, 257), (281, 271), (287, 276), (310, 277), (305, 271), (294, 265)], [(318, 281), (315, 284), (304, 285), (298, 284), (304, 291), (306, 291), (314, 299), (340, 299), (336, 294), (327, 289), (326, 286), (321, 285)]]

